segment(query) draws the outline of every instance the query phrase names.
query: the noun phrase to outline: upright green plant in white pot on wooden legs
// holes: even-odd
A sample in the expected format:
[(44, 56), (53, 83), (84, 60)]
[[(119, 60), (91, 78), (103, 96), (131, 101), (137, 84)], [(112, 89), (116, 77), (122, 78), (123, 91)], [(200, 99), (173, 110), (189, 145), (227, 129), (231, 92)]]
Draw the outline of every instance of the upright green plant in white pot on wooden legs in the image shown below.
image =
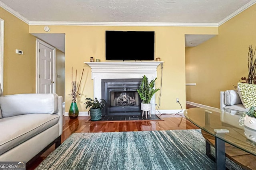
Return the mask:
[[(142, 110), (142, 116), (144, 114), (144, 111), (149, 111), (150, 114), (150, 110), (151, 110), (151, 104), (150, 104), (150, 100), (153, 97), (153, 95), (160, 90), (155, 89), (155, 82), (156, 82), (156, 78), (151, 80), (150, 82), (148, 82), (148, 78), (143, 75), (142, 79), (140, 81), (140, 86), (139, 89), (137, 89), (138, 94), (140, 95), (141, 98), (141, 110)], [(150, 114), (151, 116), (151, 114)], [(146, 119), (147, 119), (147, 113), (146, 113)]]

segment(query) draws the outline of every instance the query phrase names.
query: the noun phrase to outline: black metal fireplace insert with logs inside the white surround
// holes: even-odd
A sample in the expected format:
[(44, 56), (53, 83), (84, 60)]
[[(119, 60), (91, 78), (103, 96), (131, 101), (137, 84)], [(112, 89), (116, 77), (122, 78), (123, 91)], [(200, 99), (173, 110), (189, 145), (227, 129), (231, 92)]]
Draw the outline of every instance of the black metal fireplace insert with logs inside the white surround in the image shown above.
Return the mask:
[(102, 79), (102, 99), (108, 105), (103, 115), (140, 115), (139, 78)]

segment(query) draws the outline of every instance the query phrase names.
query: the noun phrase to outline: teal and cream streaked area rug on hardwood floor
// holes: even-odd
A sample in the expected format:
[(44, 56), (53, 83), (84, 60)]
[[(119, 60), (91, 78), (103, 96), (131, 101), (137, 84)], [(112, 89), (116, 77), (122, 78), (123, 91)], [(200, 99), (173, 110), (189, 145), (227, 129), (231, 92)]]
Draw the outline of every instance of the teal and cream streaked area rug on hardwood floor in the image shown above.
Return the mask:
[[(74, 133), (36, 170), (214, 170), (200, 130)], [(236, 169), (236, 168), (231, 168)]]

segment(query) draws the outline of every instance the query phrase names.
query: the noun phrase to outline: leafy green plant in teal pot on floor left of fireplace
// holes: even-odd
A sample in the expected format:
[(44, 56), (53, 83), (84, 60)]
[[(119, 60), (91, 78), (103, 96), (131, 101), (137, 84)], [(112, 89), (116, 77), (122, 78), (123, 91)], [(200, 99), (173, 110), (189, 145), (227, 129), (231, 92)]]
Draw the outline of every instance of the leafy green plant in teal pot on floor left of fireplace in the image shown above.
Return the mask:
[(95, 98), (95, 100), (91, 98), (86, 98), (87, 102), (84, 103), (85, 108), (87, 109), (88, 107), (90, 108), (90, 116), (92, 121), (97, 121), (101, 119), (102, 116), (102, 109), (105, 107), (107, 104), (106, 100), (100, 99), (98, 100)]

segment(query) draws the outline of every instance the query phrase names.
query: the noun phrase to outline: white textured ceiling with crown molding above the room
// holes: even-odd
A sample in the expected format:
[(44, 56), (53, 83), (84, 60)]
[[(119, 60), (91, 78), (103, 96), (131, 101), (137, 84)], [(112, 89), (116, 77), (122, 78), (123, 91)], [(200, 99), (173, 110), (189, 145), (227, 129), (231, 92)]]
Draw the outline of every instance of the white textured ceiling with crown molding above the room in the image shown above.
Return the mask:
[[(256, 0), (0, 0), (2, 8), (30, 25), (219, 26), (255, 3)], [(186, 46), (209, 37), (212, 36), (186, 35)]]

